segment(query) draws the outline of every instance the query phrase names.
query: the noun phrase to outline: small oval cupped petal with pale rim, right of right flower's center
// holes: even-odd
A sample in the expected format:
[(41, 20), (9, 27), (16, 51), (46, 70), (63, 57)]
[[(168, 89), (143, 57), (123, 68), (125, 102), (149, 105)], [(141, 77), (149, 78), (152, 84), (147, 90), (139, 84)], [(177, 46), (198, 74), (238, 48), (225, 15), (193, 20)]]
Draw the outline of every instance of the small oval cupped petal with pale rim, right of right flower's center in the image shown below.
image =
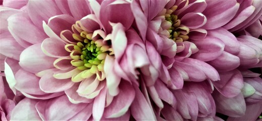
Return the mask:
[(202, 27), (207, 22), (207, 18), (201, 13), (187, 13), (180, 20), (182, 25), (190, 29)]

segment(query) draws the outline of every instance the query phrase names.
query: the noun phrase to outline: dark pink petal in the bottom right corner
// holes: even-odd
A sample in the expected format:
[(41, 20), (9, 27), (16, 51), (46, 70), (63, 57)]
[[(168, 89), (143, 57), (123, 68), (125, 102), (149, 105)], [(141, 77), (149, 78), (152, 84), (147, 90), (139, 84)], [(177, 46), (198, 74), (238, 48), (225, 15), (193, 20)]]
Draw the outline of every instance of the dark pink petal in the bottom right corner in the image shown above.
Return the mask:
[(253, 105), (246, 105), (246, 111), (244, 115), (240, 117), (228, 117), (227, 120), (256, 120), (260, 115), (260, 112), (262, 112), (262, 104), (257, 103)]

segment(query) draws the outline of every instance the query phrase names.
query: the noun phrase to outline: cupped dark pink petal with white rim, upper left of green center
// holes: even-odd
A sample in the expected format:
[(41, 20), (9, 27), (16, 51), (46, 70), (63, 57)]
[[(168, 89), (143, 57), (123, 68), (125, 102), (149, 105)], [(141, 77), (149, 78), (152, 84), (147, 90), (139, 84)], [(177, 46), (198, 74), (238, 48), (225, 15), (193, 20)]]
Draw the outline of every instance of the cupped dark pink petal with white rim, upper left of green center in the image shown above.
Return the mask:
[(75, 24), (76, 20), (69, 15), (58, 15), (51, 17), (48, 20), (48, 26), (53, 30), (53, 32), (60, 36), (60, 32), (63, 30), (71, 30), (73, 24)]

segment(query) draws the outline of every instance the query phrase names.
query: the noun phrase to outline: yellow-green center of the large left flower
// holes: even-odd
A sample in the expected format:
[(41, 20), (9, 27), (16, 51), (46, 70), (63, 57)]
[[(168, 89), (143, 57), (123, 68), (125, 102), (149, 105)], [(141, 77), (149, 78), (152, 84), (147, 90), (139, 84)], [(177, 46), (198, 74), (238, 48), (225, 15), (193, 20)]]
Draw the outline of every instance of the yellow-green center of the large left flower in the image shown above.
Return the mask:
[[(104, 59), (108, 54), (108, 45), (99, 45), (95, 40), (92, 40), (92, 33), (82, 31), (80, 35), (74, 33), (73, 38), (79, 42), (74, 44), (74, 50), (70, 56), (71, 64), (79, 70), (90, 69), (91, 73), (103, 71)], [(72, 44), (68, 44), (69, 46)], [(67, 46), (67, 45), (65, 45)]]

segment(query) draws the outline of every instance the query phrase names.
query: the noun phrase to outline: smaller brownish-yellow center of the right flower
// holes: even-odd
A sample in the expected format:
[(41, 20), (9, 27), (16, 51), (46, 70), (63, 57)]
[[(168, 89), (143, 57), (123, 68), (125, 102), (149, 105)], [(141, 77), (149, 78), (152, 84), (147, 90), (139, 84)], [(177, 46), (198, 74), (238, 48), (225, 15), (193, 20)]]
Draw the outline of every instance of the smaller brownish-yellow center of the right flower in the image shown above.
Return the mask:
[[(171, 7), (166, 11), (165, 20), (171, 23), (171, 27), (167, 30), (169, 32), (169, 38), (175, 42), (182, 42), (188, 39), (189, 28), (181, 25), (180, 19), (174, 15), (177, 6)], [(170, 24), (169, 23), (169, 24)]]

